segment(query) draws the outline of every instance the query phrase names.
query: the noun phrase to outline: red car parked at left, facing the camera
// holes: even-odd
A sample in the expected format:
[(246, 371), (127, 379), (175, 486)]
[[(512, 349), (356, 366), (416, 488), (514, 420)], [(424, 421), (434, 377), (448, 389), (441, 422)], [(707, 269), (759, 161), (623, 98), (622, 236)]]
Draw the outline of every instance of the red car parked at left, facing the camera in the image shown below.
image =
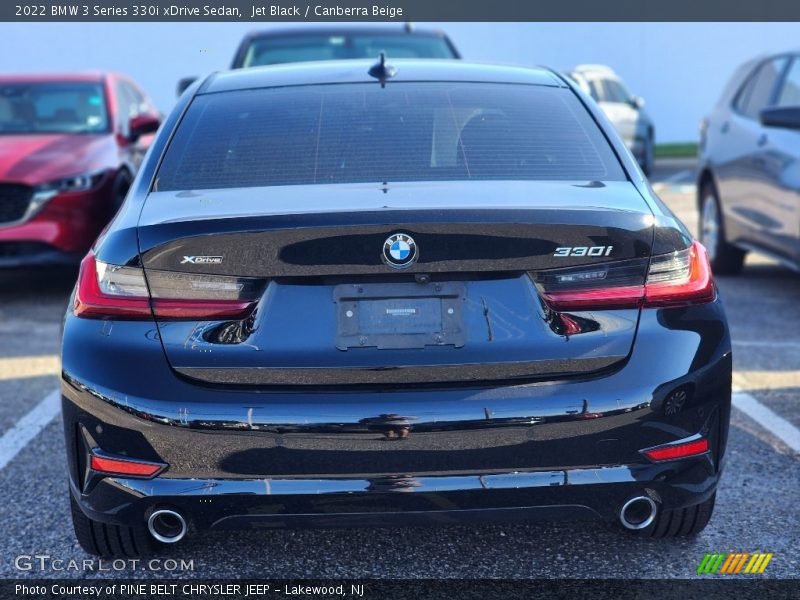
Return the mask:
[(0, 267), (80, 262), (159, 124), (121, 75), (0, 76)]

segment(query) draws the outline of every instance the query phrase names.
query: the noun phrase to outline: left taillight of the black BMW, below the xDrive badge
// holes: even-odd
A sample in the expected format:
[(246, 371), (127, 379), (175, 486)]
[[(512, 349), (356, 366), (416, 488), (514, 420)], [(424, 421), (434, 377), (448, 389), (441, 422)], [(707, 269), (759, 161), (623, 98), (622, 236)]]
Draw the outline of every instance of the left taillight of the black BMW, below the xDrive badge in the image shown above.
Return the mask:
[[(262, 280), (148, 271), (111, 265), (86, 255), (73, 313), (88, 319), (166, 320), (246, 318), (263, 292)], [(148, 293), (149, 292), (149, 293)]]

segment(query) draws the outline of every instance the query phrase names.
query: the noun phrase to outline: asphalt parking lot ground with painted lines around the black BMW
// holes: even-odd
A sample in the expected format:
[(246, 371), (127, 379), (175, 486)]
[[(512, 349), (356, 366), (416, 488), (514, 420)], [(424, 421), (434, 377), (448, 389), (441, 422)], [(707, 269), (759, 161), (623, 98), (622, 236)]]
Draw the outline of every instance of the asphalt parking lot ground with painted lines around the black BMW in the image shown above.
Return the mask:
[[(660, 163), (653, 185), (695, 230), (692, 170), (691, 161)], [(28, 574), (15, 568), (18, 555), (87, 558), (71, 529), (61, 424), (50, 418), (52, 401), (40, 404), (55, 398), (59, 321), (74, 277), (64, 271), (0, 275), (0, 577)], [(798, 577), (800, 275), (749, 257), (741, 276), (718, 278), (718, 284), (733, 333), (737, 409), (716, 512), (695, 539), (641, 540), (601, 523), (215, 532), (162, 557), (191, 560), (193, 569), (180, 575), (200, 578), (684, 578), (696, 576), (707, 552), (771, 552), (764, 577)]]

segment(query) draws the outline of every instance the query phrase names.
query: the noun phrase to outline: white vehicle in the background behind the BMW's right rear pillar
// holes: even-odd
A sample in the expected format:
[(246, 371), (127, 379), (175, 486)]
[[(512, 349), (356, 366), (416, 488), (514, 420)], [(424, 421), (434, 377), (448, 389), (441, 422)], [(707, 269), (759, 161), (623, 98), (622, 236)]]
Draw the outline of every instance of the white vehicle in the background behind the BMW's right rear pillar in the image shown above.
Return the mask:
[(644, 111), (644, 100), (628, 92), (611, 67), (578, 65), (569, 76), (600, 106), (636, 157), (645, 175), (653, 171), (656, 129)]

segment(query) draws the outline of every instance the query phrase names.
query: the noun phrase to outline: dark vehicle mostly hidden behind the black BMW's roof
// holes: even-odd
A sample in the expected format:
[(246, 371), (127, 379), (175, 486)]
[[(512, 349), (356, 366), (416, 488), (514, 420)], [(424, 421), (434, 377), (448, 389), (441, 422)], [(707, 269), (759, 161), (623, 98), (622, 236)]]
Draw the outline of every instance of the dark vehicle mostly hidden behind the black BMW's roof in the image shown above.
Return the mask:
[[(255, 31), (244, 37), (231, 69), (318, 60), (374, 58), (385, 52), (396, 58), (461, 58), (441, 31), (404, 27), (291, 28)], [(178, 95), (197, 78), (178, 82)]]

